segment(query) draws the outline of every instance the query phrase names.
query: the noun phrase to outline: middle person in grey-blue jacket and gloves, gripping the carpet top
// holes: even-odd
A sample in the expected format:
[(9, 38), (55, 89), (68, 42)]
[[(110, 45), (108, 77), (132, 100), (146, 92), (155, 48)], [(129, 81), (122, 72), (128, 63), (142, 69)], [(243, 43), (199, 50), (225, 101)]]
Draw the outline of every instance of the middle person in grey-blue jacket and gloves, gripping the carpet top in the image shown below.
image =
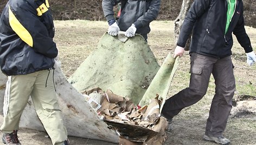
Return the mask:
[[(118, 20), (114, 18), (113, 6), (121, 3), (121, 14)], [(103, 0), (104, 16), (107, 19), (108, 34), (117, 36), (118, 31), (125, 31), (125, 36), (133, 37), (135, 34), (148, 39), (149, 24), (156, 19), (160, 9), (161, 0)]]

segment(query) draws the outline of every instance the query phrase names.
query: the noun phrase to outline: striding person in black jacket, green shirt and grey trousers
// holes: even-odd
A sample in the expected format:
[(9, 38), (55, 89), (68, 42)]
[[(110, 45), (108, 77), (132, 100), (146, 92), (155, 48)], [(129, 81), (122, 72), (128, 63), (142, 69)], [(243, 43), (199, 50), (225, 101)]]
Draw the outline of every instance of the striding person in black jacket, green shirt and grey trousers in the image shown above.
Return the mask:
[(171, 122), (172, 117), (206, 94), (210, 75), (215, 79), (215, 95), (209, 111), (203, 139), (229, 144), (223, 137), (232, 98), (235, 77), (231, 60), (232, 32), (244, 48), (247, 63), (256, 61), (251, 42), (245, 31), (242, 0), (195, 0), (185, 17), (174, 57), (182, 56), (192, 32), (190, 44), (190, 84), (176, 95), (168, 98), (162, 116)]

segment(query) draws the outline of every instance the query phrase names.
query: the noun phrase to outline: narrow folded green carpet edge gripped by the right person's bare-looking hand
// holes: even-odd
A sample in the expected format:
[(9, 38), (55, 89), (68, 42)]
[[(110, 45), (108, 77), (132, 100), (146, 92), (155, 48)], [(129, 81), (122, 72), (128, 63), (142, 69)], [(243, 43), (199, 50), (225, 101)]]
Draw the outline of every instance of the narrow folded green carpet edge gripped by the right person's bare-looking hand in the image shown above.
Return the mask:
[(172, 57), (172, 54), (169, 53), (161, 65), (161, 68), (158, 70), (156, 76), (153, 78), (149, 88), (146, 90), (142, 100), (139, 102), (139, 106), (148, 105), (150, 101), (158, 94), (159, 99), (163, 99), (160, 111), (162, 110), (162, 106), (165, 102), (165, 98), (167, 97), (172, 78), (174, 77), (177, 69), (178, 59), (178, 57), (175, 59)]

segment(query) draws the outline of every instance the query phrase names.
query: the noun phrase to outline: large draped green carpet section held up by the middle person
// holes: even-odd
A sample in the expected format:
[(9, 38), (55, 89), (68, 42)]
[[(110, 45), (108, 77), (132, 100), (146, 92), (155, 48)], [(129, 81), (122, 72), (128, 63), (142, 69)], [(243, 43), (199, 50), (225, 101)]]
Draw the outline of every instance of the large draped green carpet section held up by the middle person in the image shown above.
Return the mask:
[(136, 35), (124, 43), (105, 33), (68, 81), (78, 91), (109, 88), (138, 104), (159, 68), (142, 36)]

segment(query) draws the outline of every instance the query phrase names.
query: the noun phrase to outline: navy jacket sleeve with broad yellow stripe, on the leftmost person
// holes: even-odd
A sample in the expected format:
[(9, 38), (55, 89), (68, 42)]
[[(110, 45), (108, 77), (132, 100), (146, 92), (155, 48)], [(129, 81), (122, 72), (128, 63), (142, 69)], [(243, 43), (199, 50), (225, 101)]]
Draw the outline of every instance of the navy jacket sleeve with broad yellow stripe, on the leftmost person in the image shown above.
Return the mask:
[(9, 23), (12, 30), (34, 51), (50, 58), (57, 56), (56, 44), (49, 36), (46, 25), (37, 16), (35, 5), (25, 0), (10, 1)]

